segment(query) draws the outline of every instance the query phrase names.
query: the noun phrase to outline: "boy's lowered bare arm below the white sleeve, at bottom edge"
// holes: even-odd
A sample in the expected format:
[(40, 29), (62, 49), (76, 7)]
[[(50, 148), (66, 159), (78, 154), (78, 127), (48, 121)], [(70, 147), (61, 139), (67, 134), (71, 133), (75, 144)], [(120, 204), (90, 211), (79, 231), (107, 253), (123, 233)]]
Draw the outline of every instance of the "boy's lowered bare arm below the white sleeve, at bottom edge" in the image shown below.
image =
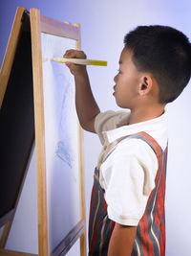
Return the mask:
[(136, 233), (137, 226), (124, 226), (116, 223), (110, 239), (108, 256), (131, 256)]

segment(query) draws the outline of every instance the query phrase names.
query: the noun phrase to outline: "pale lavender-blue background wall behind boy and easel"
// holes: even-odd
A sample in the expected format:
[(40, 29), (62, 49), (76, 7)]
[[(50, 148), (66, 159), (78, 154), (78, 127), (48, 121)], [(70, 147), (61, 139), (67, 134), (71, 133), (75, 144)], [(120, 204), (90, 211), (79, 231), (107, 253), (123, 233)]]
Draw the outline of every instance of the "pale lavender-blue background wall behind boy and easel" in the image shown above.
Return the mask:
[[(190, 37), (189, 0), (6, 0), (0, 1), (0, 63), (3, 60), (17, 6), (40, 9), (60, 21), (80, 23), (81, 48), (88, 58), (107, 59), (108, 67), (89, 67), (90, 80), (101, 110), (118, 109), (112, 96), (123, 36), (138, 25), (161, 24), (175, 27)], [(167, 256), (190, 255), (191, 244), (191, 86), (173, 104), (169, 113), (169, 158), (166, 194)], [(94, 145), (94, 146), (93, 146)], [(83, 133), (86, 212), (93, 171), (101, 145), (96, 135)], [(31, 183), (29, 179), (29, 184)], [(17, 234), (19, 236), (19, 233)], [(23, 242), (27, 243), (27, 242)], [(32, 245), (32, 244), (31, 244)], [(69, 253), (79, 255), (78, 245)]]

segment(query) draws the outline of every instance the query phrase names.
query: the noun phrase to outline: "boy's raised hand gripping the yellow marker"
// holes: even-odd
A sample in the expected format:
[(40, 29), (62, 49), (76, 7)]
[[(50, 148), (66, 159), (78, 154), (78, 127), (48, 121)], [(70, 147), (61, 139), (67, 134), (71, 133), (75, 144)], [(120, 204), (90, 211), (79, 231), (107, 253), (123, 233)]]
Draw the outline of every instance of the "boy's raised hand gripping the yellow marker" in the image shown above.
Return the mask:
[[(66, 51), (63, 58), (86, 58), (86, 55), (82, 51), (72, 49)], [(86, 73), (86, 65), (77, 65), (72, 62), (66, 62), (65, 64), (69, 67), (74, 76), (80, 76)]]

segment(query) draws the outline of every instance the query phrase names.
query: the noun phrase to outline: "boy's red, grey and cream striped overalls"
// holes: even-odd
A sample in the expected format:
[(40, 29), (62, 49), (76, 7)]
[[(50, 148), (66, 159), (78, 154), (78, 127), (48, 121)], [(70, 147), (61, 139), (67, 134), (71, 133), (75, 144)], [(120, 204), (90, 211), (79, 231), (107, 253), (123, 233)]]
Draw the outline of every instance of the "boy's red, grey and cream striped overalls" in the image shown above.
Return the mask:
[[(132, 256), (163, 256), (165, 254), (165, 151), (159, 147), (157, 141), (146, 132), (138, 132), (128, 137), (138, 138), (155, 151), (159, 169), (155, 177), (155, 188), (151, 192), (145, 212), (138, 222), (137, 236)], [(99, 184), (99, 171), (95, 171), (95, 181), (92, 191), (90, 220), (89, 220), (89, 256), (107, 256), (108, 246), (115, 222), (108, 219), (107, 204), (104, 191)]]

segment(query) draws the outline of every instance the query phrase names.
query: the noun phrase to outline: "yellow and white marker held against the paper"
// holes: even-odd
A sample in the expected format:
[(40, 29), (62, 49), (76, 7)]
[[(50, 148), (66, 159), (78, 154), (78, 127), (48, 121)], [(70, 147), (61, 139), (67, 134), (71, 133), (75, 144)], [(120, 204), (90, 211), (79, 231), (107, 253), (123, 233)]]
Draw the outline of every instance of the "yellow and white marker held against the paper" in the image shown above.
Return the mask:
[(107, 61), (86, 59), (86, 58), (61, 58), (61, 57), (58, 57), (58, 58), (52, 58), (52, 60), (59, 62), (59, 63), (73, 62), (74, 64), (79, 64), (79, 65), (107, 66)]

